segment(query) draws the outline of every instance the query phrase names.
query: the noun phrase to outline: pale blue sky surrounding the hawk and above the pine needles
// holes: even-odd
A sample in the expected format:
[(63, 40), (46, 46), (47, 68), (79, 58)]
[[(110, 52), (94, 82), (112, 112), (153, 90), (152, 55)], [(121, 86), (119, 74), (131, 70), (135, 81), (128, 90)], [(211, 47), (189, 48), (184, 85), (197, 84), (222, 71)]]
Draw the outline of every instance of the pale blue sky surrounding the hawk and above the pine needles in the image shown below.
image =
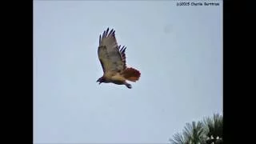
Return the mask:
[[(222, 114), (217, 2), (34, 1), (34, 142), (168, 142), (186, 122)], [(96, 82), (107, 27), (142, 73), (132, 89)]]

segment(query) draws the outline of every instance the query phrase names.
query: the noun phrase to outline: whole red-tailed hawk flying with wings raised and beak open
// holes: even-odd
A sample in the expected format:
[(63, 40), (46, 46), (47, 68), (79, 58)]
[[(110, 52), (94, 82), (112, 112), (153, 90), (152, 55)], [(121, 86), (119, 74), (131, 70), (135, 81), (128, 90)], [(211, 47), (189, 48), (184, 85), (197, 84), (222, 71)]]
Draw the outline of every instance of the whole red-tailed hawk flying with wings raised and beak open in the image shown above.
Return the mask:
[(141, 73), (132, 67), (126, 67), (126, 46), (118, 46), (115, 30), (109, 30), (107, 28), (99, 35), (98, 59), (102, 65), (103, 75), (97, 82), (125, 85), (131, 89), (132, 86), (126, 81), (138, 81)]

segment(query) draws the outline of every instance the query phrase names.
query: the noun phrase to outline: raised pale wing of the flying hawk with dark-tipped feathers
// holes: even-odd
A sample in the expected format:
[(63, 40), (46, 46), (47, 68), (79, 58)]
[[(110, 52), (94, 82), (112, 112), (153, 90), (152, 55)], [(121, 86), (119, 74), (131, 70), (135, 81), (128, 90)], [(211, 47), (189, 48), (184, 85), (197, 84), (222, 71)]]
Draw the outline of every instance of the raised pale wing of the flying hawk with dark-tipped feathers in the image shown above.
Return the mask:
[(101, 62), (103, 72), (121, 72), (126, 69), (125, 46), (118, 46), (114, 30), (107, 28), (99, 36), (98, 58)]

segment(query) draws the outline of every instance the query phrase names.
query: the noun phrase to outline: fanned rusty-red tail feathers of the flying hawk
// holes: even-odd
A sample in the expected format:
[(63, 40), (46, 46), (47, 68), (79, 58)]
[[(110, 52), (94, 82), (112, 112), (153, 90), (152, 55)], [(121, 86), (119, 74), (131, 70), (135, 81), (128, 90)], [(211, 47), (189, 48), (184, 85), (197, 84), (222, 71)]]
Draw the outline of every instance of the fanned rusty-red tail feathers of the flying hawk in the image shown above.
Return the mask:
[(136, 82), (138, 81), (138, 79), (141, 76), (141, 73), (138, 70), (135, 70), (134, 68), (126, 68), (126, 70), (124, 70), (122, 72), (122, 75), (124, 76), (124, 78), (126, 78), (128, 81), (131, 82)]

